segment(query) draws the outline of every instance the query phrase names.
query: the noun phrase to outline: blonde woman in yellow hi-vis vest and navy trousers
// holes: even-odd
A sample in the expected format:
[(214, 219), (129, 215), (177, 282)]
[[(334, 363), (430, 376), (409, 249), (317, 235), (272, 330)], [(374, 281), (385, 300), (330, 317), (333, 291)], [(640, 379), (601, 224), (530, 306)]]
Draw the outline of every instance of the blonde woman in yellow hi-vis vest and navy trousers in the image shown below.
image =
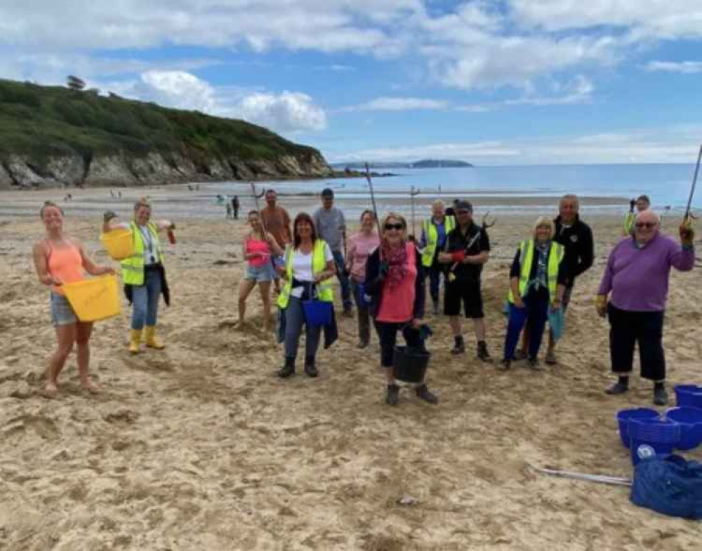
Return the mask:
[(510, 369), (519, 333), (527, 322), (531, 328), (527, 366), (539, 369), (538, 350), (549, 310), (561, 307), (567, 281), (565, 251), (552, 240), (553, 234), (553, 221), (541, 216), (534, 224), (534, 237), (517, 248), (510, 269), (510, 313), (501, 369)]

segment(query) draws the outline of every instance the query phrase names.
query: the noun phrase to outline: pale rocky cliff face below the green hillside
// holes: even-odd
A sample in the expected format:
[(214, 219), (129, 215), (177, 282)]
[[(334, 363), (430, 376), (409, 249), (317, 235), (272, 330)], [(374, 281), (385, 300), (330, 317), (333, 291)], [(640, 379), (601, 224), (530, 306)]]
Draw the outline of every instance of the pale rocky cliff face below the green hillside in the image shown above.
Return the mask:
[(18, 187), (163, 185), (203, 180), (323, 178), (333, 171), (320, 154), (282, 155), (274, 160), (194, 159), (180, 152), (133, 157), (79, 154), (37, 161), (11, 154), (0, 161), (0, 189)]

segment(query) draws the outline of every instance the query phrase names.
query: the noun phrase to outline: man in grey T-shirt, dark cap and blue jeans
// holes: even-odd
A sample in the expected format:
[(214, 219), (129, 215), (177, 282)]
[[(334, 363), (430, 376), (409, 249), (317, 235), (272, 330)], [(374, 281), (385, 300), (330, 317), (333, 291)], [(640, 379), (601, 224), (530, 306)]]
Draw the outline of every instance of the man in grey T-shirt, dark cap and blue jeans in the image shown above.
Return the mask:
[(322, 190), (322, 208), (314, 211), (314, 227), (319, 237), (329, 244), (336, 262), (336, 277), (341, 284), (341, 299), (344, 316), (352, 317), (351, 287), (344, 269), (344, 249), (346, 244), (346, 220), (344, 213), (334, 206), (334, 192), (326, 187)]

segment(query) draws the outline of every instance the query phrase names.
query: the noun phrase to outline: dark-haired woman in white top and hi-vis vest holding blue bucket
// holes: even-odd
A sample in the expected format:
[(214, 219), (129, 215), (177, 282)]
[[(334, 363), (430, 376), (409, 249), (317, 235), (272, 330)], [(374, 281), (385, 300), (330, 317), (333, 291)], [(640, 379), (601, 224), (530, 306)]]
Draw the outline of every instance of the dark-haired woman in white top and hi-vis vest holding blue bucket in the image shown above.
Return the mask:
[[(314, 357), (319, 347), (322, 327), (305, 321), (303, 301), (317, 298), (325, 303), (334, 301), (334, 293), (327, 281), (336, 274), (336, 263), (331, 248), (317, 237), (314, 220), (307, 213), (300, 213), (293, 223), (293, 243), (286, 247), (282, 276), (285, 284), (278, 297), (278, 307), (284, 322), (280, 337), (285, 343), (285, 364), (278, 376), (286, 378), (295, 373), (295, 359), (303, 325), (305, 326), (305, 373), (317, 377), (319, 371)], [(332, 313), (333, 318), (333, 313)], [(327, 328), (324, 328), (326, 333)], [(331, 339), (331, 342), (336, 338)], [(325, 347), (331, 345), (325, 334)]]

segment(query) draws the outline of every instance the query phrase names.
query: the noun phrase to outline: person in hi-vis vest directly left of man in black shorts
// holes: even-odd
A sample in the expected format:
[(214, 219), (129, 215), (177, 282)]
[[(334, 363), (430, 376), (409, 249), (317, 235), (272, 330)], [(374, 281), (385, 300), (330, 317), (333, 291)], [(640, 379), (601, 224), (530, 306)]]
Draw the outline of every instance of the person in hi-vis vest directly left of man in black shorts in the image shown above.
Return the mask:
[(432, 298), (432, 312), (439, 314), (439, 286), (444, 265), (439, 263), (439, 252), (446, 244), (446, 236), (456, 227), (456, 211), (458, 201), (453, 204), (451, 215), (444, 214), (444, 203), (437, 199), (432, 203), (432, 216), (422, 223), (422, 235), (419, 248), (422, 251), (422, 265), (425, 275), (429, 277), (429, 294)]

